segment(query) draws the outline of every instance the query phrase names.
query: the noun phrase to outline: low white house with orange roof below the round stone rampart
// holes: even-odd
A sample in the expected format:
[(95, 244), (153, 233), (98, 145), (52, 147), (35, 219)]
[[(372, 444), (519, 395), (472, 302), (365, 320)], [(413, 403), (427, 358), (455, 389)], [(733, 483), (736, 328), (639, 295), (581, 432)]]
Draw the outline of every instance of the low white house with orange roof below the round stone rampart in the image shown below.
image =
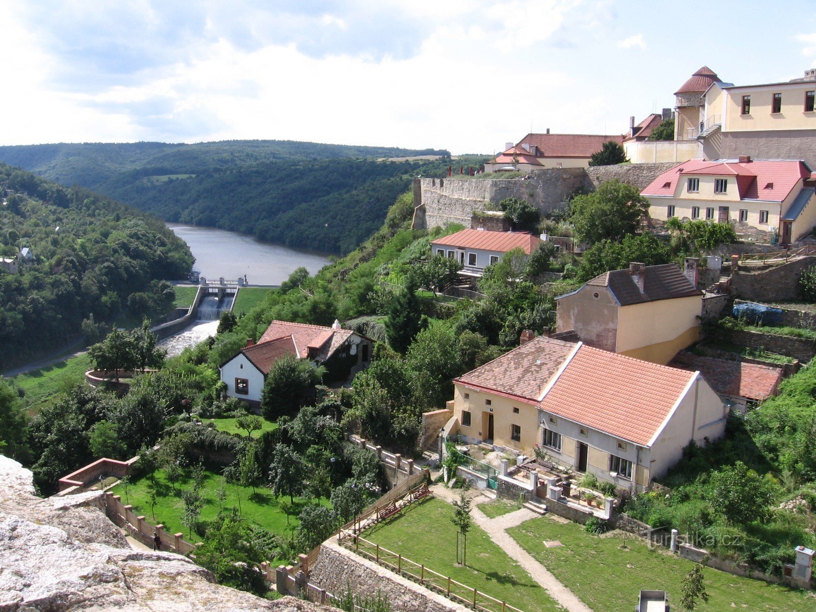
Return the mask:
[(530, 255), (541, 240), (530, 233), (491, 232), (486, 229), (463, 229), (431, 242), (433, 255), (444, 255), (459, 261), (463, 273), (481, 276), (485, 268), (495, 264), (512, 249)]

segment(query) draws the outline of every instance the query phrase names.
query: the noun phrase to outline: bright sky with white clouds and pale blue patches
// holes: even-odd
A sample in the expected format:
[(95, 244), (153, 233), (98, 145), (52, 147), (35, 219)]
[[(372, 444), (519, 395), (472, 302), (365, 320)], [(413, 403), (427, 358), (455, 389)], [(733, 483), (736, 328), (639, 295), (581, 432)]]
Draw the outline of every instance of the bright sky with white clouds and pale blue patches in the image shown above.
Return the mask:
[[(738, 7), (738, 10), (735, 8)], [(810, 2), (0, 0), (0, 144), (304, 140), (494, 153), (621, 134), (703, 65), (816, 67)]]

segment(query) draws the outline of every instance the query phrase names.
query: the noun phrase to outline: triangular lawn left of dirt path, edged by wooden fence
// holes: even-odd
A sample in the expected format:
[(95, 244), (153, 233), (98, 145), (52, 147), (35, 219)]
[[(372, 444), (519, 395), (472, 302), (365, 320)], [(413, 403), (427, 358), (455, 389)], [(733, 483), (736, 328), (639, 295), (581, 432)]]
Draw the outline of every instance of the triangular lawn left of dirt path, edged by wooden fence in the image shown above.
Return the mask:
[(526, 612), (558, 610), (547, 592), (475, 525), (468, 533), (468, 565), (457, 567), (452, 516), (450, 503), (429, 499), (411, 505), (401, 517), (384, 521), (362, 536)]

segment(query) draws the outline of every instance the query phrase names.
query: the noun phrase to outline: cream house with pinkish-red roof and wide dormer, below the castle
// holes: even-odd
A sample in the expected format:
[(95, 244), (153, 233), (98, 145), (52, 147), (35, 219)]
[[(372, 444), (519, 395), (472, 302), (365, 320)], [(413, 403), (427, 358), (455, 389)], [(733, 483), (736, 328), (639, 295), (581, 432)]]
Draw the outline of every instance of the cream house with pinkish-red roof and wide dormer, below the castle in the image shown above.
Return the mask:
[(811, 171), (799, 160), (690, 159), (663, 172), (641, 195), (649, 215), (733, 223), (739, 234), (778, 237), (783, 245), (806, 236), (816, 223)]

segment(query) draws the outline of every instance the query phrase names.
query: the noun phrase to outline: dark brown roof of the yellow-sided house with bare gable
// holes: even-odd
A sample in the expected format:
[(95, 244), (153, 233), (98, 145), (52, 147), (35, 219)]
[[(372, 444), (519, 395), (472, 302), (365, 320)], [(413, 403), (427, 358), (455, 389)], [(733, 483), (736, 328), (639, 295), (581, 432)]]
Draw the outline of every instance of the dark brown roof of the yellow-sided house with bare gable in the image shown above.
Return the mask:
[[(643, 291), (635, 282), (628, 269), (612, 270), (587, 281), (585, 286), (609, 287), (621, 306), (655, 302), (659, 299), (688, 298), (703, 295), (676, 264), (645, 266), (643, 269)], [(583, 287), (582, 287), (583, 288)], [(572, 294), (566, 294), (572, 295)], [(559, 295), (561, 299), (565, 295)]]

